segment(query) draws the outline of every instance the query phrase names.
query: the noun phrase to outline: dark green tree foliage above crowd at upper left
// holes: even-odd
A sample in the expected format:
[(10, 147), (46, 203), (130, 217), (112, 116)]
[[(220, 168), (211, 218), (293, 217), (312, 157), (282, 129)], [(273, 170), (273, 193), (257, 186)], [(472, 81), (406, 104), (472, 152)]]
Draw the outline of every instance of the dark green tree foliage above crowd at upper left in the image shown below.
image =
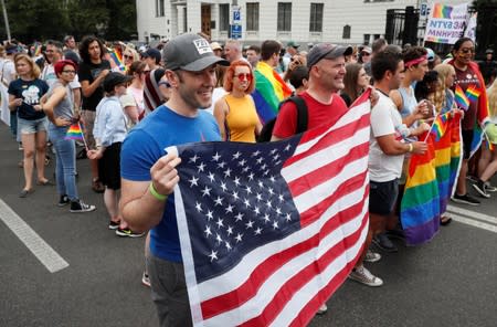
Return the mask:
[[(129, 40), (137, 33), (136, 0), (4, 0), (12, 39), (24, 43), (47, 39), (76, 40), (96, 34), (106, 40)], [(0, 38), (7, 40), (0, 14)]]

